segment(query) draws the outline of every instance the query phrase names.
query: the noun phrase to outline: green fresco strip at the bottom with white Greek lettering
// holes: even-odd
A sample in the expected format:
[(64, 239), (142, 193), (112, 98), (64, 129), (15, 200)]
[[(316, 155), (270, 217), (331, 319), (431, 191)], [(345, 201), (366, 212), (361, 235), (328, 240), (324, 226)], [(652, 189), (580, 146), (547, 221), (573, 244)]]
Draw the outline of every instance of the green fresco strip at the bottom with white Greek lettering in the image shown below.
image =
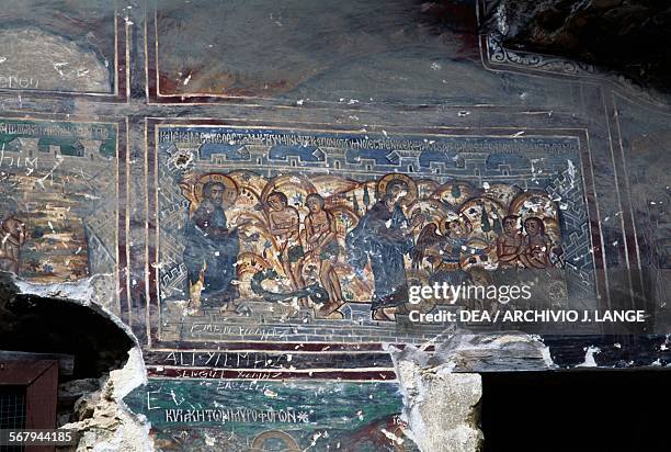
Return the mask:
[(160, 450), (419, 451), (396, 383), (149, 380), (124, 400)]

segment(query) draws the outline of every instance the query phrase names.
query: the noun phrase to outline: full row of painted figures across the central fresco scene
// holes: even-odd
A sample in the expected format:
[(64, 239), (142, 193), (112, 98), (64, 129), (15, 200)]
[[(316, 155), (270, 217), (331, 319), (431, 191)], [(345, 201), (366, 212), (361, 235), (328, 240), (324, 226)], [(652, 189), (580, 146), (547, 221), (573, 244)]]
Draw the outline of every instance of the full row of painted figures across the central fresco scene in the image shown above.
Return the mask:
[[(240, 296), (236, 271), (240, 229), (249, 225), (248, 221), (235, 225), (228, 221), (226, 211), (235, 204), (237, 189), (224, 178), (219, 174), (217, 180), (211, 176), (201, 182), (200, 204), (186, 224), (184, 249), (191, 293), (195, 287), (198, 296), (218, 306)], [(440, 226), (428, 223), (421, 212), (408, 218), (403, 213), (408, 192), (409, 183), (403, 178), (385, 183), (378, 200), (346, 231), (344, 248), (338, 238), (336, 215), (322, 195), (306, 196), (308, 214), (302, 222), (298, 210), (289, 205), (285, 193), (274, 190), (266, 194), (259, 210), (274, 237), (281, 271), (291, 289), (299, 293), (306, 287), (303, 269), (308, 261), (318, 269), (319, 284), (328, 301), (318, 306), (317, 316), (342, 318), (339, 308), (345, 300), (336, 271), (339, 260), (346, 262), (362, 280), (369, 265), (374, 285), (373, 318), (393, 320), (408, 300), (406, 257), (413, 268), (419, 268), (427, 258), (437, 260), (443, 271), (463, 274), (465, 255), (477, 251), (487, 259), (492, 247), (496, 247), (498, 268), (547, 269), (556, 264), (555, 258), (561, 253), (559, 244), (545, 233), (542, 218), (527, 216), (521, 223), (518, 215), (503, 218), (502, 231), (490, 248), (473, 250), (467, 245), (473, 230), (468, 218), (446, 221)], [(439, 229), (442, 235), (436, 233)], [(419, 235), (417, 230), (421, 230)], [(302, 297), (300, 302), (304, 306), (308, 304), (307, 298)]]

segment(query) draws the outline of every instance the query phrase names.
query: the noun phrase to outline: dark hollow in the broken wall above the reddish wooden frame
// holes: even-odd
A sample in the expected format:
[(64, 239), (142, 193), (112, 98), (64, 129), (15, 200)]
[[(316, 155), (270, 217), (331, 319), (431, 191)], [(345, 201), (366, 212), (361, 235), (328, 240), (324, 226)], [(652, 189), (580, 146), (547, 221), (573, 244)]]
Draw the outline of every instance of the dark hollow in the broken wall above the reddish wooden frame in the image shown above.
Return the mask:
[(132, 338), (95, 306), (22, 295), (0, 273), (0, 350), (73, 357), (72, 380), (122, 368)]

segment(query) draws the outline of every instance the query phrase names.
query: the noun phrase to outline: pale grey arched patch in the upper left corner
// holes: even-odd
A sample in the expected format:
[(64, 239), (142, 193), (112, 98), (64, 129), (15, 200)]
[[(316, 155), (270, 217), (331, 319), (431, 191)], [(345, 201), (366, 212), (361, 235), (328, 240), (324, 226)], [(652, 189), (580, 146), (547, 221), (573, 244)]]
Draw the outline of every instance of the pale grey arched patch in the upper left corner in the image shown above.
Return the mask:
[(0, 89), (110, 92), (92, 49), (37, 29), (0, 31)]

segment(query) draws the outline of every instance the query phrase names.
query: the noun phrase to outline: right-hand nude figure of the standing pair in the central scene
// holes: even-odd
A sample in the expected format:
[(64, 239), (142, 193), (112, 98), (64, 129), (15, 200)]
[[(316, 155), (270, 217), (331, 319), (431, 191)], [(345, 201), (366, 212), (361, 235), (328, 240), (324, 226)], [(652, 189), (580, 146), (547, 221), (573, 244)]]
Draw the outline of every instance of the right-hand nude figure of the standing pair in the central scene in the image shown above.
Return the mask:
[[(333, 267), (340, 253), (336, 231), (336, 217), (323, 208), (323, 197), (311, 193), (306, 199), (310, 213), (305, 217), (305, 230), (308, 253), (306, 259), (315, 258), (319, 263), (319, 281), (329, 294), (329, 303), (320, 309), (321, 316), (337, 314), (336, 310), (344, 304), (340, 281)], [(298, 264), (298, 268), (303, 268)]]

